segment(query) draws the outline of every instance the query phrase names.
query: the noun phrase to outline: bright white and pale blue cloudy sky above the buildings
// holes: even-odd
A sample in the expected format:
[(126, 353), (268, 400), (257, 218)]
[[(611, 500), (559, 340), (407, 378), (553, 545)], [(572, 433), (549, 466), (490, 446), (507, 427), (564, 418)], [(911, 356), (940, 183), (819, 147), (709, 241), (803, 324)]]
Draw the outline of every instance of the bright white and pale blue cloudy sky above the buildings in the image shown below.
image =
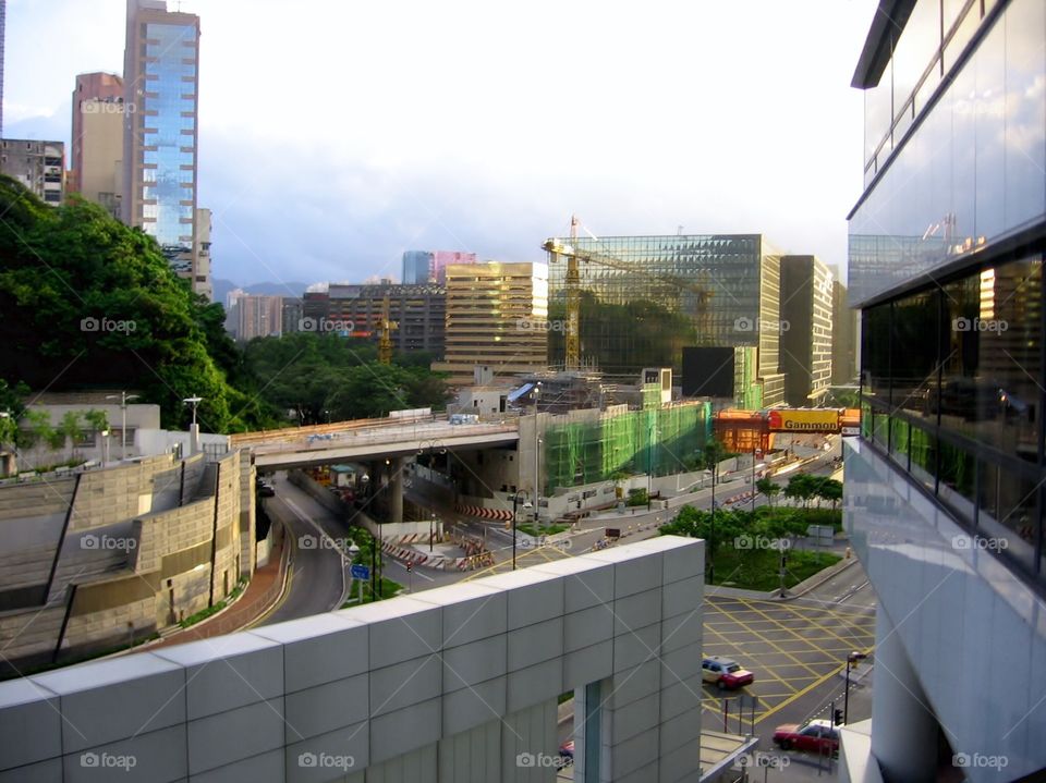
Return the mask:
[[(169, 0), (200, 16), (212, 274), (539, 261), (571, 215), (596, 236), (763, 233), (844, 274), (875, 4)], [(121, 73), (124, 14), (8, 1), (5, 137), (69, 143), (75, 75)]]

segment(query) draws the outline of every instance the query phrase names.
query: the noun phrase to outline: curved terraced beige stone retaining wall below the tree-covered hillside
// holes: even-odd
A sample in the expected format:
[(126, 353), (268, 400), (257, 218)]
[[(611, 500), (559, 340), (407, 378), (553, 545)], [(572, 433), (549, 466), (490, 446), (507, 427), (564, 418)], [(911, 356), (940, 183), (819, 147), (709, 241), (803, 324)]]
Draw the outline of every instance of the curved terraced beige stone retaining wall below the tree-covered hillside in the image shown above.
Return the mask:
[[(0, 612), (8, 673), (123, 646), (224, 598), (241, 573), (242, 476), (240, 452), (217, 464), (163, 455), (82, 474), (75, 493), (76, 479), (0, 488), (0, 531), (16, 534), (0, 543), (0, 587), (24, 599), (37, 588)], [(51, 540), (12, 547), (36, 526)]]

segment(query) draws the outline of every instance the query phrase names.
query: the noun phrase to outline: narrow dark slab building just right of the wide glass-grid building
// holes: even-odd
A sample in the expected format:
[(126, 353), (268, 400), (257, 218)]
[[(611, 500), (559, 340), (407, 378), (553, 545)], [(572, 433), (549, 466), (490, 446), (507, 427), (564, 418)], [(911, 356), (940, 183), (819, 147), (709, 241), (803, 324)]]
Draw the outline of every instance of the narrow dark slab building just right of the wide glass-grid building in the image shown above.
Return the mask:
[(831, 384), (831, 283), (816, 256), (781, 257), (781, 371), (791, 407), (819, 405)]

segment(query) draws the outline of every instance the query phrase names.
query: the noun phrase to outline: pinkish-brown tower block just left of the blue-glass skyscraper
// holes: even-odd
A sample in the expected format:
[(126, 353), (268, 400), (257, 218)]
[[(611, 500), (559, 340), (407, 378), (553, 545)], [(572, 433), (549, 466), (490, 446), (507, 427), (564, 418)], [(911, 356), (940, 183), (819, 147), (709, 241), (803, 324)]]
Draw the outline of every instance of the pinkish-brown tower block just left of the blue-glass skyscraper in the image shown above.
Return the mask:
[(120, 217), (123, 193), (123, 79), (113, 73), (81, 73), (73, 88), (70, 193)]

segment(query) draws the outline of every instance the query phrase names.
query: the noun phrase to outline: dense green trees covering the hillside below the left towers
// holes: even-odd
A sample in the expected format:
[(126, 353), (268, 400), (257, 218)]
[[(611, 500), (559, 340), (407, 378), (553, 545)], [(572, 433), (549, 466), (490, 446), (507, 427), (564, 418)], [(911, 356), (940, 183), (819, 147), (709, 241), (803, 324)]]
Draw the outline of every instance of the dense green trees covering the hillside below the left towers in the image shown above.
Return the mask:
[(51, 208), (0, 178), (0, 377), (33, 389), (133, 389), (165, 426), (217, 432), (271, 417), (244, 387), (224, 314), (170, 269), (156, 242), (100, 207)]

